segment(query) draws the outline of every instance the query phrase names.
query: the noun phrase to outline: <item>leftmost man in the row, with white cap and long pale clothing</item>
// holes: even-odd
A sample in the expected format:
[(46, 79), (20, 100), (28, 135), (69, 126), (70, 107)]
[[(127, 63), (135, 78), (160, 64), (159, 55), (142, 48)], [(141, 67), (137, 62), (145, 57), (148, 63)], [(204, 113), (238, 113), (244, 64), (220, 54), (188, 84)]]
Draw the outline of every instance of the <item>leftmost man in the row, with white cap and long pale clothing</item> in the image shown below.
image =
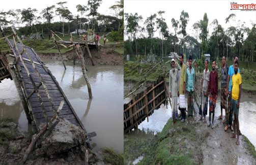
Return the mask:
[(175, 60), (172, 59), (172, 69), (169, 72), (169, 96), (172, 97), (172, 110), (174, 118), (178, 118), (178, 70), (175, 68)]

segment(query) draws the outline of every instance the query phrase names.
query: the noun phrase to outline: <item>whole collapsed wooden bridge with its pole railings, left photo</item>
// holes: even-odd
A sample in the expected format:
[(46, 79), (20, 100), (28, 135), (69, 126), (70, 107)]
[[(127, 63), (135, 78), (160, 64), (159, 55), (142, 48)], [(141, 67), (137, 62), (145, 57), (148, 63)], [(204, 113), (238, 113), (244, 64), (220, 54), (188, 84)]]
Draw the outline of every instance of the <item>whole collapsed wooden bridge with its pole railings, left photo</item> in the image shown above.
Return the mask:
[[(9, 64), (5, 55), (0, 54), (1, 79), (13, 78), (18, 90), (22, 106), (29, 121), (33, 121), (39, 134), (41, 123), (46, 123), (52, 129), (59, 122), (59, 118), (66, 118), (70, 123), (80, 126), (85, 133), (86, 129), (76, 115), (59, 83), (45, 66), (33, 48), (24, 46), (13, 29), (13, 40), (4, 37), (14, 57), (13, 64)], [(10, 37), (10, 36), (9, 36)], [(19, 41), (16, 42), (16, 39)], [(3, 62), (4, 61), (4, 62)], [(4, 72), (5, 71), (5, 72)], [(11, 75), (11, 76), (10, 76)], [(53, 122), (54, 120), (58, 122)], [(87, 145), (96, 133), (87, 134)]]

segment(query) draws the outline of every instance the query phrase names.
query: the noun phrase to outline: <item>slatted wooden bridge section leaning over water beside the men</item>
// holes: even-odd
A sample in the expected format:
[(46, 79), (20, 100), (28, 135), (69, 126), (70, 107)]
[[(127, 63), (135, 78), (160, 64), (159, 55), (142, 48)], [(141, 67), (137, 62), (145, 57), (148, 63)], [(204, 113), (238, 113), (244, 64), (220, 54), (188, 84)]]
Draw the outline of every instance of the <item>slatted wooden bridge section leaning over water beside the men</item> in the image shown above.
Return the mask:
[(166, 104), (166, 87), (164, 77), (161, 76), (157, 81), (147, 87), (136, 96), (132, 94), (132, 100), (124, 104), (124, 134), (138, 125), (160, 108), (161, 104)]

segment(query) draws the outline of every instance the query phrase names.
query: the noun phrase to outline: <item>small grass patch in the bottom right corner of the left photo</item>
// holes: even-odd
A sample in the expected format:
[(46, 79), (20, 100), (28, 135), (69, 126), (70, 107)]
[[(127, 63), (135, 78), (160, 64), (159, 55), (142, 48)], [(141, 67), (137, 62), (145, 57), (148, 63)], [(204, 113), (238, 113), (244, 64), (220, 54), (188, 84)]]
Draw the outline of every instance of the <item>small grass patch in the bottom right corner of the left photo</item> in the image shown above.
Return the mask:
[(113, 165), (124, 164), (124, 157), (122, 154), (116, 153), (111, 148), (102, 148), (101, 151), (103, 152), (105, 162)]

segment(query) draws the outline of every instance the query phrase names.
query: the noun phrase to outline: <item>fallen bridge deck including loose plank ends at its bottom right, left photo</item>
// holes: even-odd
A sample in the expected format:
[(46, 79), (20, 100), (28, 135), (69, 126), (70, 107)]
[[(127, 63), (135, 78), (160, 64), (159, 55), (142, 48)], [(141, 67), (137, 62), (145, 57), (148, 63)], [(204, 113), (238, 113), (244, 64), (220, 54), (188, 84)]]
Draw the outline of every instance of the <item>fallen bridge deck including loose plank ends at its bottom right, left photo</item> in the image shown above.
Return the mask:
[[(16, 74), (19, 77), (19, 84), (29, 109), (29, 112), (26, 114), (30, 115), (31, 119), (35, 122), (37, 130), (40, 130), (40, 124), (45, 123), (47, 118), (50, 121), (50, 118), (56, 114), (59, 106), (63, 104), (61, 102), (64, 102), (58, 117), (66, 118), (70, 123), (80, 126), (86, 132), (86, 129), (76, 115), (59, 83), (39, 58), (35, 50), (7, 38), (6, 41), (16, 59)], [(22, 58), (22, 61), (20, 58)], [(32, 63), (34, 63), (35, 67)], [(52, 104), (54, 105), (54, 109)], [(45, 115), (45, 111), (47, 115)], [(90, 141), (89, 138), (94, 136), (96, 136), (95, 132), (87, 134), (87, 140)], [(92, 148), (90, 143), (87, 144)]]

